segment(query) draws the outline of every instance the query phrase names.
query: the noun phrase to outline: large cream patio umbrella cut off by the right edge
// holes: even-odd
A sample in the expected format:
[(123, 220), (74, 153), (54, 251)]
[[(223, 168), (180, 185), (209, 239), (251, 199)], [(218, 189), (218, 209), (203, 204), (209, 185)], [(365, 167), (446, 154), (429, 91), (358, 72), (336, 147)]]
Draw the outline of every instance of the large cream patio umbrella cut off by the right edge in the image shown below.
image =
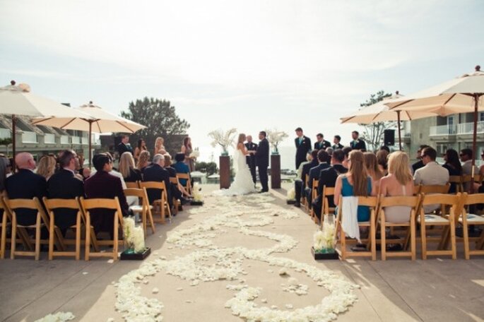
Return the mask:
[(480, 66), (476, 71), (464, 74), (451, 81), (435, 85), (427, 90), (422, 90), (413, 95), (408, 95), (404, 100), (386, 102), (391, 110), (399, 109), (405, 112), (430, 112), (439, 116), (447, 116), (456, 113), (474, 113), (473, 131), (473, 158), (472, 176), (476, 165), (477, 153), (477, 120), (478, 111), (484, 111), (484, 72)]

